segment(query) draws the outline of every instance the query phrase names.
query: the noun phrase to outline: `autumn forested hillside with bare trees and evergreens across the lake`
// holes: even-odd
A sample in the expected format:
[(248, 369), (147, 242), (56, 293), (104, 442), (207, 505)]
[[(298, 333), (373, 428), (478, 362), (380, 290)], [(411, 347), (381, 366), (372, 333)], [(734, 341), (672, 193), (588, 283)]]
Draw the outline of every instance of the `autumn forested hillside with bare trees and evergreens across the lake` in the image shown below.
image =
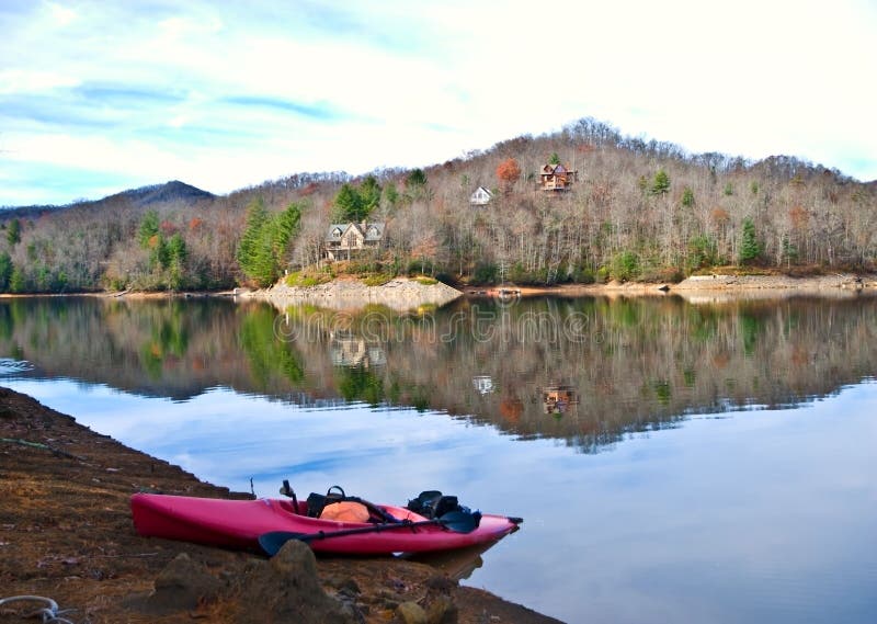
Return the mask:
[[(568, 192), (539, 170), (578, 170)], [(469, 196), (493, 193), (485, 206)], [(330, 223), (384, 246), (328, 266)], [(872, 270), (877, 183), (791, 157), (688, 155), (591, 118), (425, 169), (298, 173), (226, 196), (180, 182), (0, 212), (0, 291), (223, 288), (286, 270), (469, 283), (673, 280), (717, 265)]]

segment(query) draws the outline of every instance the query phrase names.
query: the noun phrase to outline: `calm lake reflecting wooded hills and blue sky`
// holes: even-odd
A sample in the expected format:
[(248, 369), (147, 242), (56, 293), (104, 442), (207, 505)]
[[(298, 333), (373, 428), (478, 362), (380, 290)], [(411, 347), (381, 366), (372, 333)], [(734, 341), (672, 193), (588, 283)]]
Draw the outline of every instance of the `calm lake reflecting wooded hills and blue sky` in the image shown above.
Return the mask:
[(14, 298), (0, 358), (0, 385), (235, 490), (523, 517), (463, 582), (567, 622), (877, 621), (872, 296)]

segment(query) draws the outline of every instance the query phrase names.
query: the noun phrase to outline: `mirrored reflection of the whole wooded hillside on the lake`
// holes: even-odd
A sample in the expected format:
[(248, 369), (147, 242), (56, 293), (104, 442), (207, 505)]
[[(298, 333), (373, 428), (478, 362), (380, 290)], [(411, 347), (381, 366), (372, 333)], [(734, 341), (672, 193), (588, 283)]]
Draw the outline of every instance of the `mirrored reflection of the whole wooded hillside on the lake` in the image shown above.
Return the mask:
[(877, 299), (459, 302), (425, 316), (227, 300), (0, 302), (0, 355), (186, 399), (443, 409), (583, 450), (683, 415), (824, 396), (877, 368)]

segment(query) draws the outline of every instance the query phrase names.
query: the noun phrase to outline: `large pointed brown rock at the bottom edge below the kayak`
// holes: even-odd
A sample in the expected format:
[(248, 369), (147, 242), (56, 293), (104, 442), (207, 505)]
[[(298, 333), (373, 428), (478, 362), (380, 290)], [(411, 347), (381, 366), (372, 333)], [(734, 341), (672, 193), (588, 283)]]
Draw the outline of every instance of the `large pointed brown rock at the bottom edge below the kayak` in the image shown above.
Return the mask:
[(326, 594), (317, 578), (314, 553), (305, 543), (289, 540), (271, 560), (251, 566), (240, 587), (235, 622), (357, 624), (362, 615), (354, 605)]

